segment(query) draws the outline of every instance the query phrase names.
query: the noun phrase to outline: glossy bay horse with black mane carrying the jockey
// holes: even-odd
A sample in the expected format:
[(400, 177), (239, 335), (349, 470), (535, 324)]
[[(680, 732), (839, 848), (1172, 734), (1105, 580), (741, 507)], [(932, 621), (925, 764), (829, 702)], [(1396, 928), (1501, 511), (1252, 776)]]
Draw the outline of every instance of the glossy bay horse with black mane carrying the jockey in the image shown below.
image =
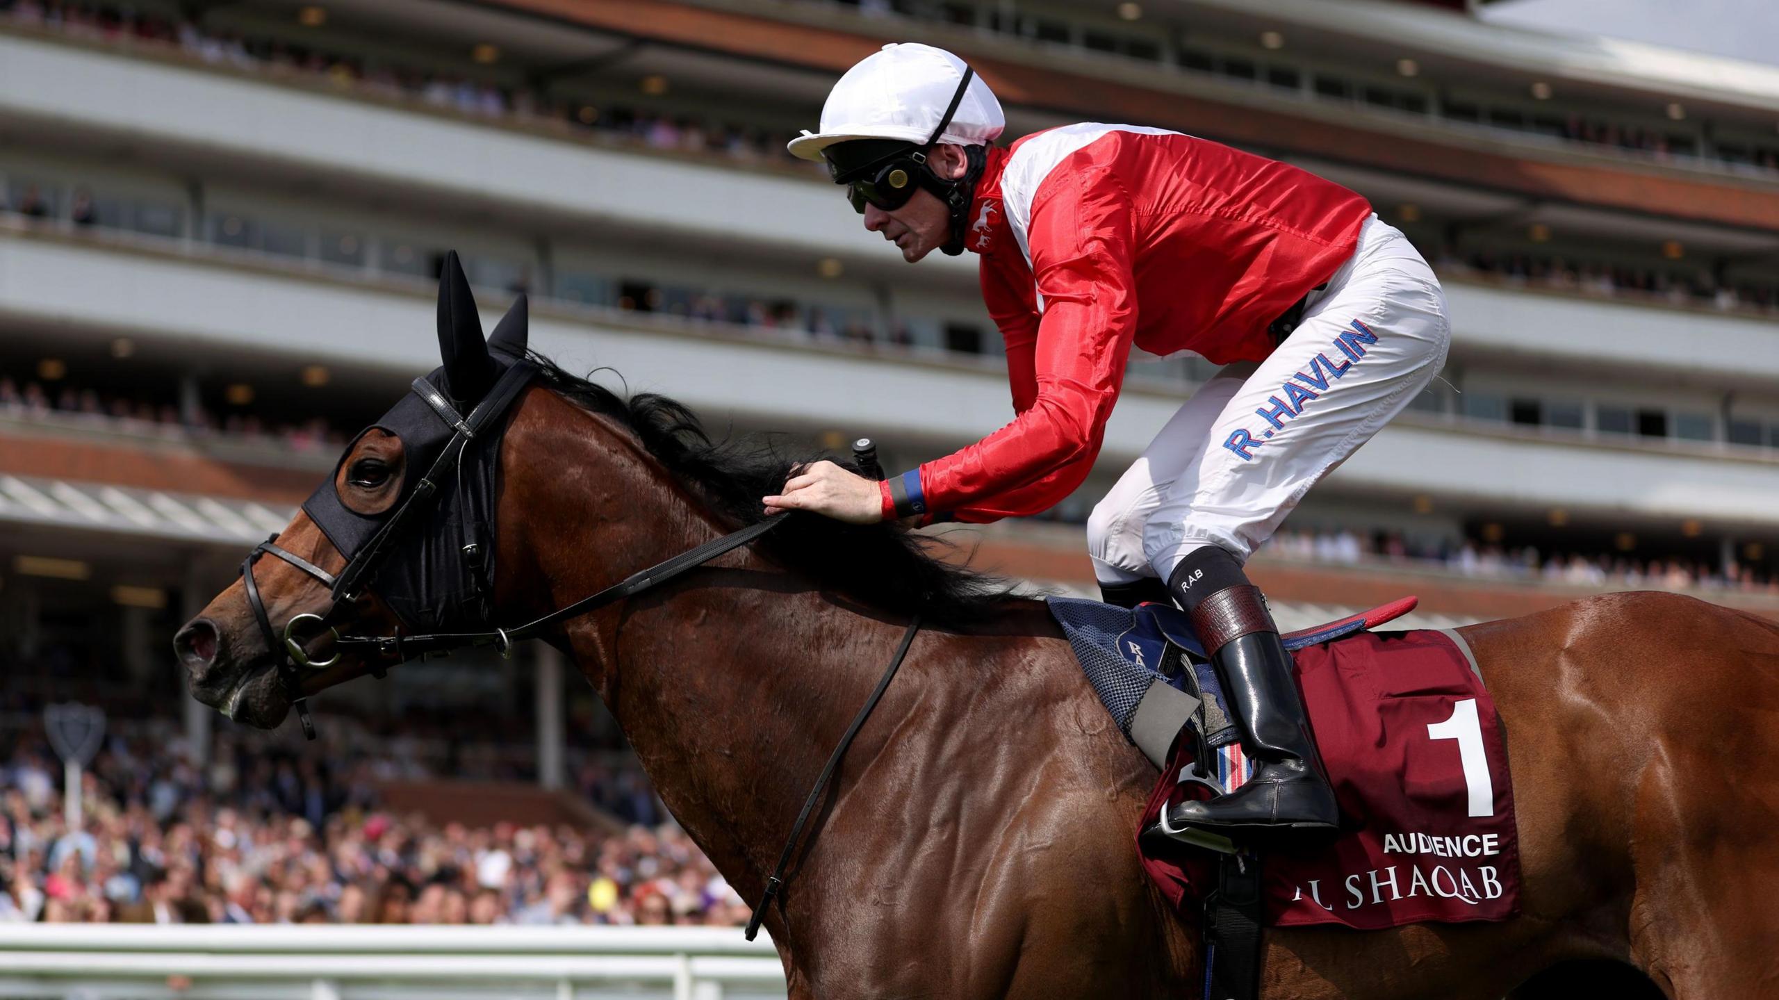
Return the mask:
[[(450, 374), (482, 335), (445, 324), (441, 311)], [(760, 521), (758, 498), (795, 464), (713, 445), (671, 399), (626, 399), (532, 361), (539, 374), (500, 440), (487, 625), (543, 616)], [(366, 432), (336, 477), (342, 498), (386, 505), (386, 486), (354, 482), (366, 459), (400, 484), (400, 440)], [(546, 641), (753, 904), (817, 770), (909, 617), (923, 617), (767, 911), (790, 995), (1199, 996), (1195, 927), (1137, 858), (1156, 770), (1112, 724), (1044, 605), (938, 559), (904, 527), (788, 518)], [(304, 512), (279, 541), (329, 573), (345, 562)], [(258, 587), (274, 623), (329, 610), (327, 587), (283, 560), (260, 562)], [(338, 625), (397, 626), (375, 596), (331, 610)], [(1574, 959), (1635, 966), (1640, 988), (1676, 1000), (1779, 993), (1779, 628), (1630, 593), (1462, 633), (1507, 731), (1523, 913), (1268, 929), (1263, 996), (1525, 996), (1528, 979)], [(285, 719), (292, 692), (269, 669), (242, 582), (174, 646), (197, 699), (253, 726)], [(379, 669), (370, 660), (343, 655), (302, 694)]]

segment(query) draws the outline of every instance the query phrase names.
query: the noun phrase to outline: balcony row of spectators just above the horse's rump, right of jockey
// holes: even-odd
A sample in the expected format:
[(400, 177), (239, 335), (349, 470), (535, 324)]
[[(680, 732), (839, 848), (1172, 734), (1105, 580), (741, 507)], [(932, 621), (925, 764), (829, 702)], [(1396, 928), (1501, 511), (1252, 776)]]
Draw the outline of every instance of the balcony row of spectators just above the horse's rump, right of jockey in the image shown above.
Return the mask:
[(1701, 559), (1638, 557), (1603, 552), (1542, 552), (1533, 544), (1501, 544), (1466, 537), (1414, 539), (1395, 530), (1361, 532), (1350, 527), (1281, 528), (1265, 550), (1283, 559), (1343, 566), (1384, 564), (1436, 569), (1461, 577), (1528, 580), (1594, 589), (1733, 589), (1779, 594), (1779, 577), (1752, 564), (1715, 564)]

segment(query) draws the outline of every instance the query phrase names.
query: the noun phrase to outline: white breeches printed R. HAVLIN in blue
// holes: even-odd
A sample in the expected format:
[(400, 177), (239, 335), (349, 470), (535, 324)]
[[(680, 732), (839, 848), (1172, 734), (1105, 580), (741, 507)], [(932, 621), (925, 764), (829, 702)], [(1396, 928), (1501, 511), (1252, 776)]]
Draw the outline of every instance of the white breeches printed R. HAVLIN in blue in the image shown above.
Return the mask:
[(1427, 388), (1450, 342), (1439, 279), (1373, 215), (1284, 343), (1206, 381), (1094, 507), (1087, 548), (1099, 582), (1167, 580), (1206, 544), (1245, 562)]

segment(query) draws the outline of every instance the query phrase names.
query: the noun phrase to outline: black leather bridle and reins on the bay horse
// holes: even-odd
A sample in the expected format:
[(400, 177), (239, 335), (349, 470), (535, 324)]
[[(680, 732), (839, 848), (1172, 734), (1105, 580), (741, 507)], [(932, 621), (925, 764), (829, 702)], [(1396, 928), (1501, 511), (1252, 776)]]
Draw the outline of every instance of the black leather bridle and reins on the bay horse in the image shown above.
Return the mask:
[[(279, 683), (283, 683), (285, 687), (285, 698), (288, 698), (290, 705), (297, 710), (297, 719), (302, 722), (302, 735), (306, 738), (311, 740), (315, 738), (315, 722), (313, 719), (310, 719), (308, 698), (302, 694), (301, 671), (322, 669), (333, 665), (340, 658), (342, 649), (352, 649), (352, 648), (368, 649), (374, 657), (377, 657), (377, 665), (372, 669), (372, 674), (377, 678), (386, 676), (390, 665), (386, 660), (393, 660), (395, 664), (406, 664), (407, 660), (416, 660), (429, 655), (443, 655), (452, 649), (493, 646), (495, 649), (500, 651), (502, 657), (511, 657), (514, 642), (525, 639), (535, 639), (553, 625), (562, 623), (569, 617), (640, 594), (651, 587), (658, 587), (672, 580), (674, 577), (685, 573), (687, 569), (703, 566), (704, 562), (710, 562), (712, 559), (717, 559), (726, 552), (737, 550), (754, 541), (756, 537), (779, 527), (790, 518), (790, 514), (772, 516), (763, 521), (747, 525), (745, 528), (729, 532), (722, 537), (706, 541), (704, 544), (681, 552), (672, 559), (656, 562), (648, 569), (639, 569), (637, 573), (632, 573), (630, 577), (619, 580), (617, 584), (612, 584), (610, 587), (605, 587), (596, 594), (589, 594), (568, 607), (557, 609), (543, 617), (527, 621), (525, 625), (516, 625), (512, 628), (495, 628), (491, 632), (438, 632), (427, 635), (402, 635), (400, 628), (397, 628), (393, 635), (340, 635), (336, 628), (327, 625), (327, 619), (333, 617), (333, 614), (342, 605), (350, 605), (363, 594), (363, 587), (375, 578), (377, 568), (388, 557), (390, 541), (395, 537), (395, 532), (400, 530), (404, 523), (413, 521), (420, 511), (431, 507), (431, 500), (438, 496), (438, 484), (454, 470), (461, 468), (463, 454), (470, 447), (470, 443), (473, 443), (477, 436), (484, 429), (487, 429), (507, 409), (507, 406), (512, 404), (519, 390), (525, 388), (525, 384), (530, 383), (532, 375), (535, 374), (537, 374), (535, 365), (530, 365), (528, 361), (514, 363), (500, 375), (500, 379), (495, 383), (495, 388), (489, 390), (489, 393), (482, 399), (482, 402), (479, 402), (470, 411), (468, 416), (459, 415), (459, 411), (450, 404), (448, 399), (445, 399), (443, 393), (438, 391), (438, 388), (432, 386), (432, 383), (425, 379), (415, 379), (413, 390), (420, 393), (423, 400), (427, 400), (432, 411), (438, 413), (439, 420), (455, 429), (455, 434), (452, 436), (445, 450), (439, 452), (439, 457), (432, 463), (432, 468), (427, 470), (427, 475), (422, 477), (420, 482), (415, 486), (413, 493), (407, 495), (407, 500), (404, 500), (402, 505), (397, 507), (395, 514), (377, 530), (375, 536), (372, 536), (372, 539), (365, 546), (359, 548), (359, 552), (352, 553), (345, 568), (340, 569), (338, 577), (327, 573), (326, 569), (310, 562), (308, 559), (302, 559), (301, 555), (286, 548), (281, 548), (278, 544), (276, 534), (256, 544), (253, 552), (247, 553), (247, 559), (242, 560), (240, 578), (244, 589), (247, 591), (247, 603), (253, 607), (253, 617), (260, 623), (260, 633), (265, 637), (267, 646), (278, 657)], [(854, 447), (854, 457), (857, 457), (866, 475), (882, 479), (882, 470), (877, 468), (875, 448), (870, 447), (870, 441), (861, 440)], [(468, 559), (471, 569), (479, 569), (484, 564), (482, 555), (486, 550), (480, 550), (479, 546), (480, 541), (473, 537), (468, 539), (463, 546), (463, 553)], [(260, 555), (274, 555), (278, 559), (283, 559), (290, 566), (295, 566), (297, 569), (320, 580), (324, 585), (327, 585), (329, 593), (333, 594), (333, 603), (327, 607), (324, 614), (302, 612), (286, 621), (281, 637), (283, 641), (279, 641), (279, 633), (272, 628), (272, 619), (265, 612), (265, 601), (260, 598), (260, 585), (253, 578), (253, 564), (260, 559)], [(329, 633), (333, 633), (334, 655), (326, 660), (315, 660), (313, 657), (310, 657), (302, 641), (295, 635), (295, 626), (299, 621), (315, 621)], [(822, 788), (827, 786), (829, 778), (833, 778), (834, 770), (840, 767), (841, 758), (845, 758), (847, 747), (852, 746), (852, 738), (859, 735), (859, 730), (865, 726), (865, 721), (870, 717), (872, 710), (877, 708), (877, 703), (890, 689), (890, 681), (902, 667), (902, 660), (907, 658), (907, 649), (909, 646), (914, 644), (914, 635), (918, 632), (920, 632), (920, 616), (916, 614), (907, 623), (907, 628), (902, 632), (902, 641), (897, 644), (895, 655), (890, 658), (890, 665), (877, 680), (877, 687), (872, 690), (870, 698), (859, 708), (857, 715), (852, 717), (852, 724), (847, 726), (845, 735), (840, 737), (840, 746), (834, 747), (834, 753), (829, 754), (827, 763), (822, 767), (820, 776), (817, 776), (815, 786), (809, 790), (809, 797), (804, 799), (802, 811), (797, 813), (797, 822), (792, 824), (790, 838), (786, 840), (785, 849), (779, 852), (777, 865), (774, 865), (772, 874), (765, 881), (765, 891), (761, 893), (760, 902), (754, 906), (753, 918), (747, 922), (745, 936), (749, 941), (753, 941), (754, 934), (760, 932), (760, 923), (765, 918), (767, 907), (770, 907), (772, 900), (779, 897), (785, 890), (785, 883), (790, 877), (786, 875), (786, 868), (790, 867), (790, 861), (797, 852), (797, 845), (802, 842), (804, 826), (809, 822), (809, 817), (815, 811), (815, 804), (822, 797)]]

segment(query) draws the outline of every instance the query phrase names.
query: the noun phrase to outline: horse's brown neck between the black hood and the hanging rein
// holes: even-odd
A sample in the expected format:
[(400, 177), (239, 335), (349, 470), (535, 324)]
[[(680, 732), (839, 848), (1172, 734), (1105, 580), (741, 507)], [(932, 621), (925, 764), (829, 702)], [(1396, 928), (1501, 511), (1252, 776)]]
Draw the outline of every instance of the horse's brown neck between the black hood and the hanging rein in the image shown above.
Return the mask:
[[(720, 534), (651, 459), (589, 445), (607, 448), (598, 480), (568, 480), (550, 498), (532, 493), (557, 489), (548, 482), (521, 486), (527, 504), (582, 518), (575, 528), (539, 520), (521, 528), (541, 577), (523, 589), (551, 607)], [(550, 452), (560, 461), (573, 447), (555, 438)], [(598, 523), (587, 511), (601, 514)], [(753, 897), (904, 625), (836, 607), (747, 546), (578, 617), (568, 635), (674, 817)], [(857, 753), (870, 747), (861, 742)]]

